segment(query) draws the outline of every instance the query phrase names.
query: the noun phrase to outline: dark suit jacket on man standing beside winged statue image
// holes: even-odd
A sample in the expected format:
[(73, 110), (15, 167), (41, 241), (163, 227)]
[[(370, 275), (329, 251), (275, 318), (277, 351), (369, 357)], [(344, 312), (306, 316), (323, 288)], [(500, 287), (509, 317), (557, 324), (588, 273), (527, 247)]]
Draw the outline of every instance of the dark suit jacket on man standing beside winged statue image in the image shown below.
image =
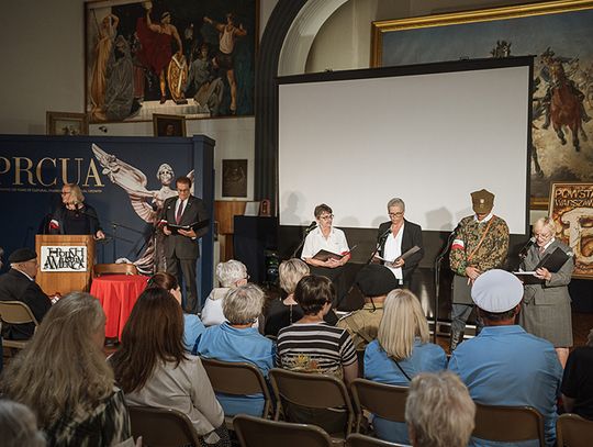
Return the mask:
[[(177, 202), (177, 195), (171, 197), (165, 201), (163, 205), (161, 220), (176, 223), (175, 219), (175, 205)], [(203, 222), (209, 219), (208, 211), (204, 206), (202, 199), (190, 195), (188, 203), (181, 215), (179, 225), (191, 225), (195, 222)], [(197, 259), (200, 257), (200, 245), (198, 239), (208, 233), (208, 226), (195, 231), (198, 237), (192, 239), (180, 234), (171, 234), (165, 237), (165, 256), (176, 257), (178, 259)]]

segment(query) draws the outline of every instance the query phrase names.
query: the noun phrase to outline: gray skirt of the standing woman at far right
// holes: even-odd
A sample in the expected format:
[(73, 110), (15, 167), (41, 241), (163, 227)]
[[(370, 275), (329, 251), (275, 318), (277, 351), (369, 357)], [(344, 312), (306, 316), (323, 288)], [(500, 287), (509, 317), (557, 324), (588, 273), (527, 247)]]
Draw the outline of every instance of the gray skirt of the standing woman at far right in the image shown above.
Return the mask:
[(572, 314), (570, 300), (559, 300), (555, 304), (523, 302), (519, 324), (529, 334), (550, 342), (556, 348), (572, 346)]

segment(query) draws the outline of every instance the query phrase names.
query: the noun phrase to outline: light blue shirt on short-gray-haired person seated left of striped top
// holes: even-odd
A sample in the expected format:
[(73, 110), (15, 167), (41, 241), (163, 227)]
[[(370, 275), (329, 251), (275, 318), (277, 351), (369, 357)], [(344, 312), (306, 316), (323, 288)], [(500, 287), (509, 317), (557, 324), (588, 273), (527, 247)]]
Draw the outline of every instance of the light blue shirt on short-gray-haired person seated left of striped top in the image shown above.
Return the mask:
[[(273, 368), (276, 346), (255, 327), (238, 329), (228, 323), (208, 327), (195, 346), (195, 354), (222, 361), (248, 362), (259, 368), (264, 376)], [(261, 416), (264, 395), (236, 396), (216, 393), (226, 416), (244, 413)]]

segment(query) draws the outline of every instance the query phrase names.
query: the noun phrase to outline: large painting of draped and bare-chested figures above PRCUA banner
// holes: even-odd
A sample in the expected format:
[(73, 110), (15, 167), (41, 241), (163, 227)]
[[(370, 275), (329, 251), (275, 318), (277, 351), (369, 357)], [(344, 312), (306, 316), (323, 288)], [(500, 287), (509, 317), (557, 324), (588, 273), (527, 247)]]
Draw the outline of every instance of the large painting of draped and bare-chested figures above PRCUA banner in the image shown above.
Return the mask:
[(85, 3), (91, 123), (254, 114), (258, 0)]

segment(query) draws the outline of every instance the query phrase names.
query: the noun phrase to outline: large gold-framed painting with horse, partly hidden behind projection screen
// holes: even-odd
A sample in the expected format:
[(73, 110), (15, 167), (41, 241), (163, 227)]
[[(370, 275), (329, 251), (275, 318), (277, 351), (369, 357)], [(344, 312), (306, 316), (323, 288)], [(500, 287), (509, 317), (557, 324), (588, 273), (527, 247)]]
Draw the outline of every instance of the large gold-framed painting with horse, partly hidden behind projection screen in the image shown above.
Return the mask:
[(546, 209), (552, 182), (593, 181), (592, 36), (591, 0), (381, 21), (371, 65), (535, 55), (530, 193)]

